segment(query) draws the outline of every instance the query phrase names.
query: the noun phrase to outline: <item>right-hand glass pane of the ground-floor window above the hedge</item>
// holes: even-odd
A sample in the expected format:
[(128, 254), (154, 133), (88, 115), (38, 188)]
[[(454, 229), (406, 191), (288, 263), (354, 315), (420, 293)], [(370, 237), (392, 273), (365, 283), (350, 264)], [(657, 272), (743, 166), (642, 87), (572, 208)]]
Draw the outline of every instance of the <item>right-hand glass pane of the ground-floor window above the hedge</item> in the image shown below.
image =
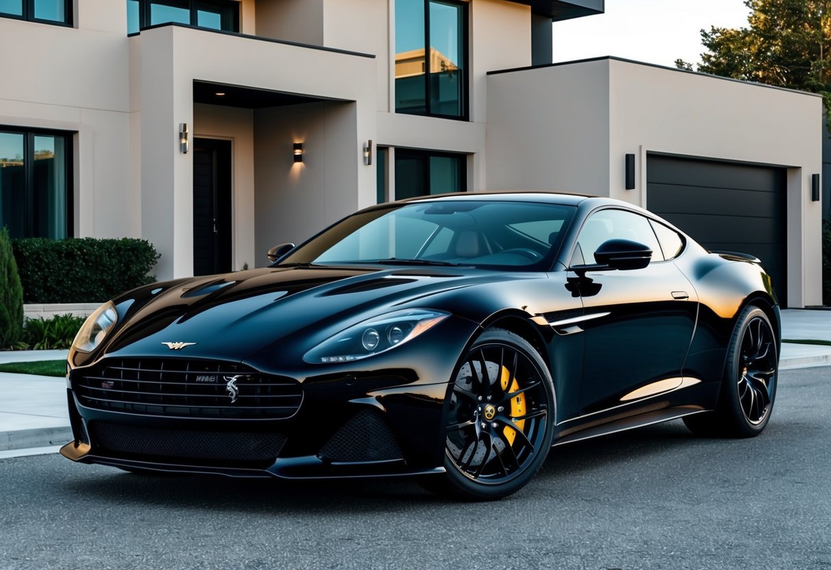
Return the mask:
[(34, 201), (42, 238), (66, 237), (66, 138), (35, 136)]

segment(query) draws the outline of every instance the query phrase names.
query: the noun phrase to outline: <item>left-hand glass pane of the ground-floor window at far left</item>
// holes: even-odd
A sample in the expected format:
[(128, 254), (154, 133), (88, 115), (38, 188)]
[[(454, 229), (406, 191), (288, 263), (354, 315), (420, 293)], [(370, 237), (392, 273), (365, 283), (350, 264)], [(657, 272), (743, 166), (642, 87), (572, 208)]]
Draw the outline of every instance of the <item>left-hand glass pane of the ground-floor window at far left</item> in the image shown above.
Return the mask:
[(0, 227), (26, 236), (26, 160), (22, 133), (0, 132)]

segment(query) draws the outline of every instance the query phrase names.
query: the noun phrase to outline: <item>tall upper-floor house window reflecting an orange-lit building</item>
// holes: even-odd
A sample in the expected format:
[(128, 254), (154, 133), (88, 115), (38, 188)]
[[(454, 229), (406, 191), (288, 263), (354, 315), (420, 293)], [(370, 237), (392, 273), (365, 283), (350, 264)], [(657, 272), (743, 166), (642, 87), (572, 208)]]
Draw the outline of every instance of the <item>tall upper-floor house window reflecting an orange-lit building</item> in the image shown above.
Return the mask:
[(396, 0), (396, 112), (468, 117), (467, 4)]

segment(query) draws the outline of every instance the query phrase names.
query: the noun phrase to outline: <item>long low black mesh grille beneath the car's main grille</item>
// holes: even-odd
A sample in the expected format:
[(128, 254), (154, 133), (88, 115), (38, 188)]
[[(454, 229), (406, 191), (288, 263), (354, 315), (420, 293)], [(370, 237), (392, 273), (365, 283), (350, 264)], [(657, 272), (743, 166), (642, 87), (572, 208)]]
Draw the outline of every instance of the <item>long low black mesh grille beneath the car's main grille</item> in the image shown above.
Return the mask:
[(286, 443), (285, 435), (275, 433), (165, 430), (101, 421), (90, 423), (90, 435), (94, 453), (115, 452), (127, 459), (273, 461)]

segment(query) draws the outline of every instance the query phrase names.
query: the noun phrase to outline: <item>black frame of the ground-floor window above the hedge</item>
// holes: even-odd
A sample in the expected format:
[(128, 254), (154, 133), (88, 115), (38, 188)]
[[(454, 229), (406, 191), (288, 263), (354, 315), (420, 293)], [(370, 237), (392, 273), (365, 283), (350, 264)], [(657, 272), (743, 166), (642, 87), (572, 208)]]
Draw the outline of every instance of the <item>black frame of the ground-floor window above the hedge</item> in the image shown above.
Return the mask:
[(64, 139), (64, 176), (66, 177), (66, 236), (75, 236), (75, 159), (74, 138), (75, 131), (41, 129), (37, 127), (19, 127), (15, 125), (0, 125), (0, 133), (23, 135), (23, 193), (25, 194), (25, 238), (44, 237), (39, 232), (37, 216), (35, 215), (35, 137), (52, 136)]

